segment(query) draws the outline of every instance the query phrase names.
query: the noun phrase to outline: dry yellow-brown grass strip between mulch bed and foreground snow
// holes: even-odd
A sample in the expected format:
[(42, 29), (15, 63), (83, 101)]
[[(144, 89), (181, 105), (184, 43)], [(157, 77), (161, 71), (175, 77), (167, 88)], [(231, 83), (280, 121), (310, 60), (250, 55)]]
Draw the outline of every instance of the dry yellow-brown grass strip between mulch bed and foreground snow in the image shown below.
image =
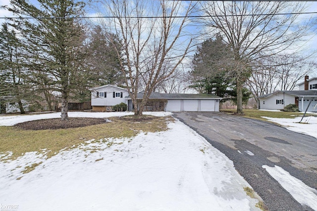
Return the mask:
[(43, 152), (50, 158), (62, 149), (77, 146), (91, 139), (132, 137), (141, 130), (163, 131), (167, 129), (167, 122), (172, 121), (172, 118), (155, 117), (141, 122), (123, 121), (120, 118), (109, 120), (112, 122), (67, 129), (25, 130), (0, 127), (0, 154), (8, 155), (8, 152), (12, 152), (9, 159), (16, 159), (26, 152)]

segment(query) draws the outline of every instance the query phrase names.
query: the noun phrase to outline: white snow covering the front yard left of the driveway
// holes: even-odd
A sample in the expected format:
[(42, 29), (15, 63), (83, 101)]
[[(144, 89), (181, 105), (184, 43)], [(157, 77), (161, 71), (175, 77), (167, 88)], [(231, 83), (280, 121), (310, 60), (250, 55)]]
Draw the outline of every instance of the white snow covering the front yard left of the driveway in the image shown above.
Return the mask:
[[(132, 113), (69, 112), (69, 117)], [(170, 113), (151, 112), (166, 116)], [(60, 113), (0, 116), (0, 125), (58, 118)], [(250, 185), (223, 153), (179, 121), (169, 130), (90, 140), (46, 159), (36, 152), (0, 161), (0, 209), (15, 211), (249, 211)], [(109, 144), (110, 143), (110, 144)], [(22, 174), (24, 167), (41, 163)]]

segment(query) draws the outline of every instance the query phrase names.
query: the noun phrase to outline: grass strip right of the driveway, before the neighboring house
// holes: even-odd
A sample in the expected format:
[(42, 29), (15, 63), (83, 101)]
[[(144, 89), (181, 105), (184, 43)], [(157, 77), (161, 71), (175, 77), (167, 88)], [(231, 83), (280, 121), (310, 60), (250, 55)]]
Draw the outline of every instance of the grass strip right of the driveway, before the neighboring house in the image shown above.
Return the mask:
[[(233, 114), (236, 112), (236, 109), (223, 109), (220, 111), (224, 113)], [(303, 116), (303, 113), (300, 113), (300, 112), (274, 112), (274, 111), (260, 111), (257, 109), (244, 109), (243, 112), (245, 114), (243, 117), (257, 119), (257, 120), (264, 120), (264, 121), (267, 121), (267, 119), (264, 119), (262, 117), (294, 119), (295, 117)], [(306, 114), (306, 116), (312, 116), (312, 114)]]

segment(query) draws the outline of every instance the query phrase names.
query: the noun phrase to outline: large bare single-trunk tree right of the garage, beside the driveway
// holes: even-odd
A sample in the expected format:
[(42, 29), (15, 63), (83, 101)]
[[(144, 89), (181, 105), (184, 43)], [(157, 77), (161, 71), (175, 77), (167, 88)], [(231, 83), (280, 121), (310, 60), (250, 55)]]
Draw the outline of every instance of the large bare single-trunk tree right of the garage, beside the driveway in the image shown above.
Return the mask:
[[(219, 33), (234, 53), (226, 63), (237, 86), (237, 113), (243, 113), (242, 87), (259, 69), (259, 60), (292, 53), (310, 34), (311, 19), (297, 19), (305, 2), (206, 1), (201, 5), (209, 16), (202, 20), (208, 33)], [(292, 14), (276, 15), (279, 13)], [(274, 61), (274, 65), (279, 65), (279, 61)]]

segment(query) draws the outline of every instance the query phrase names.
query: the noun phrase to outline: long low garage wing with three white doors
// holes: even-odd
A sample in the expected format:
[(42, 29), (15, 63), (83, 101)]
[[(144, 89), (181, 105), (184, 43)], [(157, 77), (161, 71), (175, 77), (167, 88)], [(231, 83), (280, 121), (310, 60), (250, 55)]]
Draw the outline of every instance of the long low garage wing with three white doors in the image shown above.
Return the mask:
[[(128, 99), (128, 111), (133, 110), (132, 100)], [(143, 93), (138, 93), (138, 99), (143, 98)], [(219, 111), (219, 101), (222, 99), (213, 94), (173, 94), (153, 92), (150, 95), (151, 99), (165, 99), (167, 104), (164, 111), (179, 112), (179, 111)], [(151, 111), (151, 106), (146, 106), (146, 110)]]

